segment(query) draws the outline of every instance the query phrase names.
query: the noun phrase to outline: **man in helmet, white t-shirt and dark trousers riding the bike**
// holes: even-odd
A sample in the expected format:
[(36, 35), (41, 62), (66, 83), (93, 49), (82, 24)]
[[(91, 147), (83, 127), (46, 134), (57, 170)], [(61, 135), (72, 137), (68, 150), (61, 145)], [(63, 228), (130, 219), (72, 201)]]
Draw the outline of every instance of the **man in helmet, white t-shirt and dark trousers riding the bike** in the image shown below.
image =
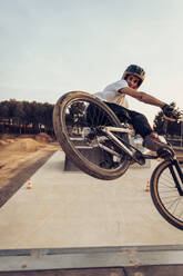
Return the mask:
[(144, 103), (160, 107), (167, 117), (172, 114), (172, 107), (165, 102), (146, 92), (136, 91), (144, 78), (145, 71), (136, 65), (131, 65), (125, 69), (121, 80), (106, 86), (103, 91), (96, 92), (94, 96), (102, 99), (121, 121), (125, 118), (133, 126), (135, 134), (141, 135), (143, 138), (143, 147), (152, 151), (159, 151), (165, 148), (173, 155), (173, 149), (160, 140), (157, 134), (151, 128), (146, 117), (128, 108), (125, 95)]

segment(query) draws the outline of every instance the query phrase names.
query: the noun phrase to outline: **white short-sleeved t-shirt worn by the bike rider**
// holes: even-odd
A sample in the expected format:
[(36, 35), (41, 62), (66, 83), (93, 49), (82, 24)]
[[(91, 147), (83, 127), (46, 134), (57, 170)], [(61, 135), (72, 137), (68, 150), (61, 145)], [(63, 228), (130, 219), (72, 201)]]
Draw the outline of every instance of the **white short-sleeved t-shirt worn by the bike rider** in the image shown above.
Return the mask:
[(120, 89), (129, 87), (124, 79), (118, 80), (109, 86), (101, 92), (94, 93), (98, 98), (103, 101), (109, 101), (129, 108), (129, 103), (125, 99), (125, 93), (119, 92)]

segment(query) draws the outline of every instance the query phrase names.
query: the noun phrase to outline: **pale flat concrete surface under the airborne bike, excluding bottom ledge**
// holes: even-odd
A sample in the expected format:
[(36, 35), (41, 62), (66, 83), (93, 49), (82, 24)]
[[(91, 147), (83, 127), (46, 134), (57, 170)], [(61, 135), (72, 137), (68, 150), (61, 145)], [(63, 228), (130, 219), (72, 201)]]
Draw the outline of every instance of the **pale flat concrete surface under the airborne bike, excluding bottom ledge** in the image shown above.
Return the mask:
[(112, 181), (63, 172), (57, 151), (0, 209), (0, 249), (182, 245), (144, 191), (153, 168)]

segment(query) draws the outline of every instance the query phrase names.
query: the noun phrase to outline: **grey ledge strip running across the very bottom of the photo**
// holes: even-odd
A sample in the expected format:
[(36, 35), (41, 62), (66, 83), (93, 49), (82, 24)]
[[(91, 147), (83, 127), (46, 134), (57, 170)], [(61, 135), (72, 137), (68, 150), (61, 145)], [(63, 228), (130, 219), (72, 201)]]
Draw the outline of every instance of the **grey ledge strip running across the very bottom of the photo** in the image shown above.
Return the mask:
[(182, 259), (183, 246), (8, 249), (0, 250), (0, 275), (114, 276), (118, 268), (125, 276), (182, 276)]

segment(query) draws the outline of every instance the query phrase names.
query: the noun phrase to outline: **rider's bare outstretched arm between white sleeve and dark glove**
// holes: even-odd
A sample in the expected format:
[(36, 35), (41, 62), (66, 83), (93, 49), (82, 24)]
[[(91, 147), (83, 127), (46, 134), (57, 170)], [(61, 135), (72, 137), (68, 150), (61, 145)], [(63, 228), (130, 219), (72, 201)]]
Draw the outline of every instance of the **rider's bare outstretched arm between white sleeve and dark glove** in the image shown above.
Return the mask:
[(149, 103), (152, 106), (156, 106), (160, 108), (162, 108), (165, 105), (165, 102), (154, 98), (153, 96), (145, 93), (145, 92), (142, 92), (142, 91), (138, 92), (136, 90), (134, 90), (130, 87), (124, 87), (124, 88), (120, 89), (119, 92), (129, 95), (129, 96), (135, 98), (136, 100), (140, 100), (144, 103)]

